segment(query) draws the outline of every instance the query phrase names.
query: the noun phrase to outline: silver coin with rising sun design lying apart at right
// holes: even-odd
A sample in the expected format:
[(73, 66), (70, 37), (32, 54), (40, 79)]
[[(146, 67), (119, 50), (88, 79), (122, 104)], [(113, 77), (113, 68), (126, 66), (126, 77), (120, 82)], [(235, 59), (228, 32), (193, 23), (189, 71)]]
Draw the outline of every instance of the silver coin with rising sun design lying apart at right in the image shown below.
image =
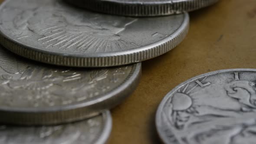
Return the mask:
[(227, 69), (169, 92), (156, 116), (165, 144), (255, 144), (256, 69)]

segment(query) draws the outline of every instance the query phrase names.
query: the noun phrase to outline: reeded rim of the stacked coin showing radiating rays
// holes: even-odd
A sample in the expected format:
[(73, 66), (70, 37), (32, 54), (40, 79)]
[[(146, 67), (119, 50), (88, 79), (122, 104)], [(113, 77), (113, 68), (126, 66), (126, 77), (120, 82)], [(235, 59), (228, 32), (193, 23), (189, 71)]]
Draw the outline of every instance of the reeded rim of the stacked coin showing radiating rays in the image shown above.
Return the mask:
[[(5, 0), (0, 5), (0, 10), (9, 2)], [(70, 67), (108, 67), (126, 65), (160, 56), (176, 47), (187, 35), (189, 29), (189, 15), (184, 13), (181, 26), (171, 35), (156, 43), (141, 46), (135, 49), (128, 49), (119, 52), (100, 53), (65, 53), (53, 52), (48, 49), (40, 49), (12, 39), (3, 33), (0, 26), (0, 43), (11, 52), (17, 55), (53, 65)]]

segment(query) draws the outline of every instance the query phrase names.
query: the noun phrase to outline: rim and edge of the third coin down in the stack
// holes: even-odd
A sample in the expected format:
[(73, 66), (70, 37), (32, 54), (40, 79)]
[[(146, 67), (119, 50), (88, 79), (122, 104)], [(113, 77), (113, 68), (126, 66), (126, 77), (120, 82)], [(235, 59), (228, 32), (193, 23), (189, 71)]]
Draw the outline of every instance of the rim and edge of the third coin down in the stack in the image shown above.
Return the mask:
[(102, 98), (77, 102), (72, 105), (59, 105), (41, 108), (0, 107), (0, 122), (19, 125), (53, 125), (81, 121), (98, 115), (105, 109), (111, 109), (125, 100), (137, 87), (141, 78), (141, 63), (133, 64), (126, 79)]

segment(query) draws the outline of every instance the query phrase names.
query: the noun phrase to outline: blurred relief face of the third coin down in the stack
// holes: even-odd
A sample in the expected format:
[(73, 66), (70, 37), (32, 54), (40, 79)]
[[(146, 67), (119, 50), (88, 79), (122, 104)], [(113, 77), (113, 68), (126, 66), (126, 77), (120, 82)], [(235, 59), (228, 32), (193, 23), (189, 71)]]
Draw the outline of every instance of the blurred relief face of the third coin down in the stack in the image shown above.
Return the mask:
[[(55, 106), (87, 101), (115, 88), (130, 67), (72, 70), (37, 66), (0, 49), (0, 104)], [(114, 81), (113, 81), (114, 80)], [(109, 85), (105, 85), (105, 83)]]

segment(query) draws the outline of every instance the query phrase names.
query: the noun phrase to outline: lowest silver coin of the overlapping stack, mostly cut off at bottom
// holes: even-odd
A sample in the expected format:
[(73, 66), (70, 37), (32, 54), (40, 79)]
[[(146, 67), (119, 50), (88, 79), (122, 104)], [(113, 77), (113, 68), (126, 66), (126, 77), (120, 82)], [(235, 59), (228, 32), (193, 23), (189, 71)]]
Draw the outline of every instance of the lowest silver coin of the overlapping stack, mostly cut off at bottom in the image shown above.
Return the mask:
[(0, 126), (1, 144), (105, 144), (112, 129), (109, 111), (72, 124), (39, 127)]

